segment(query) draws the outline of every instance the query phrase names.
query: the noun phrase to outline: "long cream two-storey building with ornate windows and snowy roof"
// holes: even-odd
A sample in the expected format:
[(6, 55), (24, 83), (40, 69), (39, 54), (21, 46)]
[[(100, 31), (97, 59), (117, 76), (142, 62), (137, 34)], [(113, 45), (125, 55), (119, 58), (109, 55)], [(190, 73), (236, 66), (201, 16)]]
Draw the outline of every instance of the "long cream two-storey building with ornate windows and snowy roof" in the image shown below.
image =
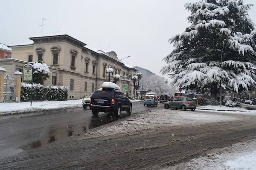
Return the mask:
[[(0, 67), (13, 71), (23, 71), (23, 65), (43, 60), (50, 68), (50, 78), (45, 85), (60, 84), (68, 86), (68, 99), (79, 99), (101, 88), (108, 81), (106, 68), (114, 69), (121, 79), (117, 85), (128, 83), (128, 93), (134, 94), (133, 82), (129, 78), (137, 69), (125, 65), (114, 51), (93, 51), (86, 44), (67, 34), (29, 38), (30, 44), (12, 45), (12, 59), (0, 59)], [(9, 68), (12, 70), (9, 70)], [(112, 77), (112, 75), (111, 75)]]

